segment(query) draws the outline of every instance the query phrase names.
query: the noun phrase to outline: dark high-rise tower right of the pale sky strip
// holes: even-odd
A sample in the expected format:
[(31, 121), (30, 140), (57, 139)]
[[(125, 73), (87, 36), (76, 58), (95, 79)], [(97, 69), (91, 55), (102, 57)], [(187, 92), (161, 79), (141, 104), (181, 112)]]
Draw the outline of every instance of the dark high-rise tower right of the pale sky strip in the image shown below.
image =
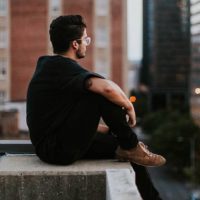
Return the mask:
[(143, 1), (140, 81), (153, 110), (187, 104), (190, 72), (189, 0)]

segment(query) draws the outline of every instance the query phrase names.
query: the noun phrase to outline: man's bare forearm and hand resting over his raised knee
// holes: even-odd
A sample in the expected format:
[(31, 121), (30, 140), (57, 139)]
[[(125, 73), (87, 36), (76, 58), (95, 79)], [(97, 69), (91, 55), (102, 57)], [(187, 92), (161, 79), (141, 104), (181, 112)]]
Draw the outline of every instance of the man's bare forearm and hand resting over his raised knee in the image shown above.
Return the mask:
[(86, 81), (86, 88), (92, 92), (104, 96), (114, 104), (123, 107), (129, 116), (130, 126), (135, 125), (136, 117), (134, 107), (117, 84), (107, 79), (92, 77)]

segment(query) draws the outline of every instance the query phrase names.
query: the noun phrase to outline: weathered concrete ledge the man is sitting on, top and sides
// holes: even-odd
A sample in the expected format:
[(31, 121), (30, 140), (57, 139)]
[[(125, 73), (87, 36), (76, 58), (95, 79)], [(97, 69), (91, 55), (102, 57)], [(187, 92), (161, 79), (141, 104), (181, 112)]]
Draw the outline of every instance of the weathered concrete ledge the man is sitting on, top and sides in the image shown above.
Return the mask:
[[(106, 174), (109, 191), (113, 193), (111, 169), (127, 170), (134, 184), (135, 177), (130, 164), (116, 160), (81, 160), (70, 166), (56, 166), (43, 163), (35, 155), (2, 156), (0, 200), (106, 200)], [(123, 188), (124, 183), (115, 176), (114, 184)], [(136, 186), (133, 186), (133, 193), (138, 194)], [(108, 200), (121, 199), (113, 199), (110, 195)]]

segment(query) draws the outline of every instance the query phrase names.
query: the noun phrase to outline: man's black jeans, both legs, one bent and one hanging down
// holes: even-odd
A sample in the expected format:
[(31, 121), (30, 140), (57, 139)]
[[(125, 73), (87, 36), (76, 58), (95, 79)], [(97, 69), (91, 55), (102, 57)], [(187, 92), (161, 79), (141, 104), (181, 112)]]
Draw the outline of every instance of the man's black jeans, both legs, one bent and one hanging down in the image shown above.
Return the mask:
[[(96, 133), (101, 117), (113, 134)], [(137, 143), (137, 136), (129, 127), (121, 107), (100, 95), (86, 93), (66, 120), (66, 130), (44, 141), (37, 154), (49, 163), (70, 164), (82, 158), (111, 159), (115, 157), (118, 145), (130, 149), (136, 147)], [(133, 163), (132, 166), (143, 199), (159, 199), (147, 170)]]

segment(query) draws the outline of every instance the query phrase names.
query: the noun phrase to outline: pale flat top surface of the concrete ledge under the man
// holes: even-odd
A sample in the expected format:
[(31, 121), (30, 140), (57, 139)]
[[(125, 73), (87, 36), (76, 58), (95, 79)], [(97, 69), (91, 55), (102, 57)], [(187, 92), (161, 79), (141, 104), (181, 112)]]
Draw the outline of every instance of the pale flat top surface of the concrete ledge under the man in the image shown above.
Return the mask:
[(0, 157), (0, 175), (6, 174), (97, 174), (106, 169), (132, 169), (128, 162), (117, 160), (80, 160), (72, 165), (50, 165), (42, 162), (36, 155), (8, 154)]

